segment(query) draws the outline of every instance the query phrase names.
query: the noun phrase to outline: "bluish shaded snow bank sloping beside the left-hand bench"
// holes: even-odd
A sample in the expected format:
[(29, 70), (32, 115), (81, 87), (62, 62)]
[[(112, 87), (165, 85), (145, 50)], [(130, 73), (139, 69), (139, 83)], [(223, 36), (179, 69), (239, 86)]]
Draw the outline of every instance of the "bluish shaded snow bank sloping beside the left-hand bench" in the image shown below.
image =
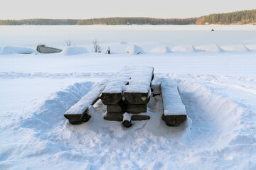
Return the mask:
[(42, 103), (33, 108), (31, 118), (22, 120), (23, 128), (33, 128), (36, 131), (44, 131), (59, 125), (66, 121), (63, 114), (65, 111), (80, 101), (82, 96), (85, 96), (92, 87), (93, 82), (75, 83), (53, 93)]

